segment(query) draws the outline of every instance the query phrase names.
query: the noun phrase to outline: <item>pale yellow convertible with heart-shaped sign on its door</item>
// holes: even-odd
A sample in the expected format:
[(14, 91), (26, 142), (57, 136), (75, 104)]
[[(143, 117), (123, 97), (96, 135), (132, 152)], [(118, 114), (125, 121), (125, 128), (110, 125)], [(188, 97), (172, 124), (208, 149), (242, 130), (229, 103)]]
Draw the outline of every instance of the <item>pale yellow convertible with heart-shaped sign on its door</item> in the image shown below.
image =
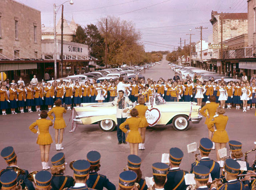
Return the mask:
[[(134, 103), (135, 104), (135, 103)], [(107, 103), (83, 103), (75, 107), (76, 124), (99, 124), (103, 131), (112, 131), (116, 127), (116, 106)], [(195, 102), (165, 102), (157, 93), (146, 102), (148, 110), (145, 114), (149, 126), (172, 124), (175, 130), (185, 131), (189, 122), (199, 123), (202, 116), (199, 114), (200, 106)], [(135, 106), (135, 105), (134, 105)]]

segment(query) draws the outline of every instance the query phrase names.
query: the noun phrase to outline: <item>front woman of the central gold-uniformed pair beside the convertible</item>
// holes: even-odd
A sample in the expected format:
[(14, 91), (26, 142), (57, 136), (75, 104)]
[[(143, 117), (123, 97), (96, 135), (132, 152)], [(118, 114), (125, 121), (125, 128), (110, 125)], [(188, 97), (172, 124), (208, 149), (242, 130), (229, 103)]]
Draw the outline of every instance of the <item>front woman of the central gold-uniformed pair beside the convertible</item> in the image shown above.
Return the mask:
[[(128, 132), (126, 142), (130, 144), (130, 154), (135, 154), (138, 156), (138, 146), (139, 143), (142, 142), (140, 133), (139, 133), (139, 126), (141, 119), (138, 117), (139, 113), (136, 108), (132, 109), (130, 112), (130, 116), (128, 117), (125, 122), (120, 124), (119, 128), (123, 132)], [(125, 128), (125, 126), (129, 126), (129, 131)]]

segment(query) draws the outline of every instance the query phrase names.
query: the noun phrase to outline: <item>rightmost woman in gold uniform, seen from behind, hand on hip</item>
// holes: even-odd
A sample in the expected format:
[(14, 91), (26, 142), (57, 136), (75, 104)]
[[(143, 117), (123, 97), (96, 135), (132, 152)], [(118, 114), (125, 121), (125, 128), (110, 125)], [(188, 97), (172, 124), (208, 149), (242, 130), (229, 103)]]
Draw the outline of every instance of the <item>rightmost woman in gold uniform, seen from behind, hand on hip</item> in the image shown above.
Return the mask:
[[(208, 123), (208, 129), (211, 132), (214, 132), (213, 137), (212, 137), (212, 142), (215, 142), (216, 146), (216, 157), (217, 161), (220, 164), (220, 167), (224, 166), (224, 160), (220, 160), (220, 155), (218, 154), (218, 150), (225, 148), (226, 143), (229, 141), (228, 139), (228, 133), (226, 132), (226, 125), (228, 123), (228, 116), (224, 116), (223, 114), (225, 113), (224, 108), (218, 107), (216, 110), (217, 114), (213, 116), (212, 121)], [(216, 131), (214, 131), (214, 124), (216, 126)]]

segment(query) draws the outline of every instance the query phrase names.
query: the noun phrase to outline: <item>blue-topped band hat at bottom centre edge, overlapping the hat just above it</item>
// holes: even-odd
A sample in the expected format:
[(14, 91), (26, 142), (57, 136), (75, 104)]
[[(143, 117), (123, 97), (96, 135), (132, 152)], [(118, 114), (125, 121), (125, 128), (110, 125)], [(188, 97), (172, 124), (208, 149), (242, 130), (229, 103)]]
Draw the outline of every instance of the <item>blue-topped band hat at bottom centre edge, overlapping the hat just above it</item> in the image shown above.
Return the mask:
[[(124, 171), (119, 174), (119, 190), (134, 190), (137, 174), (134, 171)], [(129, 182), (127, 182), (129, 181)]]

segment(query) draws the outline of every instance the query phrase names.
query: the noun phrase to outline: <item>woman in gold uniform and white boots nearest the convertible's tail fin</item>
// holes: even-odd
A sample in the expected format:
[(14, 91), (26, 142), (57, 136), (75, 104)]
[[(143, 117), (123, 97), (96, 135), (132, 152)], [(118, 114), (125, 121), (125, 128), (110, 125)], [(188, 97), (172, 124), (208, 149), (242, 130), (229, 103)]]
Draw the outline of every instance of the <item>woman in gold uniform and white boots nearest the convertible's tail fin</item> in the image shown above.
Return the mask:
[[(52, 113), (55, 115), (55, 121), (53, 128), (55, 129), (55, 146), (56, 150), (63, 150), (62, 141), (63, 141), (63, 133), (64, 128), (66, 127), (65, 120), (63, 119), (63, 114), (66, 114), (66, 109), (62, 107), (62, 102), (60, 99), (55, 101), (55, 106), (53, 106), (52, 110), (48, 112), (48, 116), (51, 120), (54, 119)], [(60, 130), (60, 141), (58, 141), (59, 137), (59, 130)]]

